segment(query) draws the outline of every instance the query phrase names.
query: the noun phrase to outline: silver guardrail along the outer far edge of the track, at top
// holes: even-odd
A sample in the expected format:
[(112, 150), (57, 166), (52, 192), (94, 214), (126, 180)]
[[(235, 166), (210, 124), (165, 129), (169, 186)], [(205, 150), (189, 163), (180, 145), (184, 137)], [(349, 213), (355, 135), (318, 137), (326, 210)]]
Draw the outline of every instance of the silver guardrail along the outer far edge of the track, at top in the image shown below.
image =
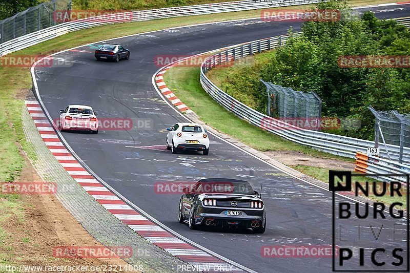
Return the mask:
[(320, 2), (320, 0), (244, 0), (236, 2), (224, 2), (185, 7), (124, 12), (118, 13), (122, 14), (122, 16), (117, 16), (115, 20), (107, 20), (107, 18), (104, 15), (96, 16), (87, 19), (75, 20), (73, 22), (62, 23), (50, 28), (32, 32), (30, 34), (6, 41), (5, 43), (0, 44), (0, 57), (14, 51), (18, 51), (42, 43), (43, 41), (67, 34), (72, 31), (92, 28), (96, 26), (128, 22), (141, 22), (152, 19), (180, 17), (188, 15), (203, 15), (212, 13), (255, 10), (294, 5), (306, 5), (315, 4), (318, 2)]

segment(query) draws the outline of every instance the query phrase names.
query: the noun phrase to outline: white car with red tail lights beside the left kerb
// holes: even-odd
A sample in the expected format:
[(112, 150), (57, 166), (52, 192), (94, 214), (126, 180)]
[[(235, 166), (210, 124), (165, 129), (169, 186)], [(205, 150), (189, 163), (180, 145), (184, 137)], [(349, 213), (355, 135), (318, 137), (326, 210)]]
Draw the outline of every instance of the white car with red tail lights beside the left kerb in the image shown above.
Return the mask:
[(97, 112), (90, 106), (69, 105), (60, 110), (59, 129), (61, 131), (81, 130), (98, 134)]

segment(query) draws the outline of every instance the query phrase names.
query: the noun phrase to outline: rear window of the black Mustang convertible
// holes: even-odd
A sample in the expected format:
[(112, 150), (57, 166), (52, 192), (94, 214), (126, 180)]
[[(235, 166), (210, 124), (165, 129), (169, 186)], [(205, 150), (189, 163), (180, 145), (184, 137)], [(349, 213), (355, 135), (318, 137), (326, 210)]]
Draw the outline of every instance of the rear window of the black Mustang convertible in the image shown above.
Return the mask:
[(227, 180), (218, 182), (206, 182), (195, 185), (193, 192), (196, 193), (221, 193), (221, 194), (249, 194), (253, 195), (254, 191), (249, 182), (232, 182)]

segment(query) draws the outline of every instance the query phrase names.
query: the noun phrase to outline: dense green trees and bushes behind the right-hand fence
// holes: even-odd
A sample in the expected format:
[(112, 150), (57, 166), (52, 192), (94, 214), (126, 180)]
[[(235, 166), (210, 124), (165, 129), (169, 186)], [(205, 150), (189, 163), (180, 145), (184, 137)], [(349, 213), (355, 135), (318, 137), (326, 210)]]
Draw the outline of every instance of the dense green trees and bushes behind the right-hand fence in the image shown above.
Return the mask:
[(263, 65), (229, 75), (222, 88), (244, 93), (261, 112), (267, 98), (260, 78), (297, 91), (315, 91), (323, 100), (322, 116), (361, 120), (359, 130), (332, 133), (372, 140), (375, 121), (368, 106), (410, 113), (410, 69), (341, 68), (339, 56), (410, 55), (410, 32), (370, 12), (353, 16), (344, 2), (319, 3), (316, 9), (339, 9), (344, 16), (338, 22), (304, 23), (300, 37), (291, 37)]

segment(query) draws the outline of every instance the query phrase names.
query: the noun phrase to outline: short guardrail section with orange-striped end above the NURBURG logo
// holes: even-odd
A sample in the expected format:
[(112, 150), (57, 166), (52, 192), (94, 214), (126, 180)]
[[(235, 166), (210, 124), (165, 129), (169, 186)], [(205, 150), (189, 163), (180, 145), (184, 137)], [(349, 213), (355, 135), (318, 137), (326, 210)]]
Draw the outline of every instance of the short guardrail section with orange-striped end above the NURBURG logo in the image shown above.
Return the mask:
[(355, 171), (364, 174), (404, 174), (403, 176), (394, 176), (394, 178), (377, 177), (377, 179), (386, 182), (400, 181), (401, 183), (406, 184), (406, 175), (410, 174), (410, 166), (357, 152)]

